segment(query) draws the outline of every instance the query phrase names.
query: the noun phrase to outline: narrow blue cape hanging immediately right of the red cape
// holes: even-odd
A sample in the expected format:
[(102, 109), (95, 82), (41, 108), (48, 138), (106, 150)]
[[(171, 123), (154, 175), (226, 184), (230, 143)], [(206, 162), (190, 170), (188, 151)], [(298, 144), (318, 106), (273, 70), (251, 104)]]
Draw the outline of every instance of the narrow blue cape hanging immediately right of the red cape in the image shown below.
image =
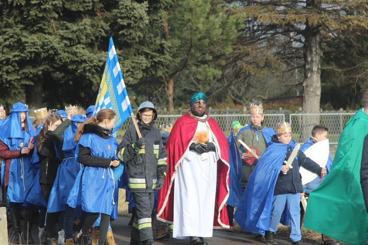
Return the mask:
[[(229, 142), (230, 141), (230, 142)], [(237, 207), (244, 191), (241, 189), (241, 158), (237, 142), (231, 132), (229, 138), (230, 194), (226, 204)]]

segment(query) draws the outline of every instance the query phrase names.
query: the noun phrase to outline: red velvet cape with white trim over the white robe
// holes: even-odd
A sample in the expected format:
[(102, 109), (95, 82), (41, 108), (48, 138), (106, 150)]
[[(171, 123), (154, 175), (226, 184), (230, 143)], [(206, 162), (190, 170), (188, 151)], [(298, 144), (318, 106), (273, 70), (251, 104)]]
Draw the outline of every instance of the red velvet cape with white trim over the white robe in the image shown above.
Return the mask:
[[(217, 188), (213, 228), (229, 228), (229, 218), (226, 210), (226, 200), (229, 197), (229, 146), (227, 139), (214, 119), (210, 118), (206, 124), (210, 127), (214, 143), (218, 149)], [(166, 160), (169, 167), (163, 188), (158, 191), (157, 217), (161, 221), (173, 223), (174, 220), (174, 180), (179, 164), (183, 162), (184, 154), (193, 140), (198, 121), (188, 114), (180, 117), (174, 124), (167, 140)]]

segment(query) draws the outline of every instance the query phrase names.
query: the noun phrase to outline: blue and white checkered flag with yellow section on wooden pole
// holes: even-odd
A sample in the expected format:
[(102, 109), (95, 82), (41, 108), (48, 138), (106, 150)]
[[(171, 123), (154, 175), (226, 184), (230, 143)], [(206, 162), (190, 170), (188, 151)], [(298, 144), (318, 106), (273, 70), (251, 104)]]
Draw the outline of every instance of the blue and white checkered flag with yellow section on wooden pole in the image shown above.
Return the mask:
[(115, 126), (112, 130), (113, 133), (133, 112), (112, 38), (110, 38), (108, 46), (105, 71), (102, 76), (93, 115), (96, 116), (97, 112), (104, 108), (111, 109), (116, 113)]

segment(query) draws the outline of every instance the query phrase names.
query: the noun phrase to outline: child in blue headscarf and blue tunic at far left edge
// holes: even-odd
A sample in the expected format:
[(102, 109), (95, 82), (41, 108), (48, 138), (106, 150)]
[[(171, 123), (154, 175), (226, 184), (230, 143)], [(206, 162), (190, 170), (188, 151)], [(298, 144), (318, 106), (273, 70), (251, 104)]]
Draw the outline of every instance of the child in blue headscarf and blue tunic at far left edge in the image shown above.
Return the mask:
[[(27, 106), (21, 102), (13, 104), (9, 117), (0, 129), (0, 158), (4, 159), (1, 164), (0, 195), (2, 206), (7, 204), (6, 194), (9, 201), (10, 221), (14, 230), (14, 239), (11, 242), (14, 244), (22, 243), (20, 210), (35, 175), (31, 164), (34, 150), (31, 138), (35, 136)], [(26, 208), (26, 243), (33, 243), (29, 232), (33, 223), (33, 210), (33, 206)]]

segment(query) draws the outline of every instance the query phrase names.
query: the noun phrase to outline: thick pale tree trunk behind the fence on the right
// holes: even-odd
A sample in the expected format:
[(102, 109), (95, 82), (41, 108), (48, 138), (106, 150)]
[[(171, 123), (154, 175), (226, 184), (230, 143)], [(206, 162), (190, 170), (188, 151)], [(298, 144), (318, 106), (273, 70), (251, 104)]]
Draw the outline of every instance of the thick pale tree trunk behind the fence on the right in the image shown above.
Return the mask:
[[(321, 99), (320, 34), (318, 28), (307, 25), (304, 43), (304, 113), (319, 113)], [(300, 142), (306, 142), (311, 136), (312, 128), (319, 124), (319, 116), (305, 116), (302, 124)]]

